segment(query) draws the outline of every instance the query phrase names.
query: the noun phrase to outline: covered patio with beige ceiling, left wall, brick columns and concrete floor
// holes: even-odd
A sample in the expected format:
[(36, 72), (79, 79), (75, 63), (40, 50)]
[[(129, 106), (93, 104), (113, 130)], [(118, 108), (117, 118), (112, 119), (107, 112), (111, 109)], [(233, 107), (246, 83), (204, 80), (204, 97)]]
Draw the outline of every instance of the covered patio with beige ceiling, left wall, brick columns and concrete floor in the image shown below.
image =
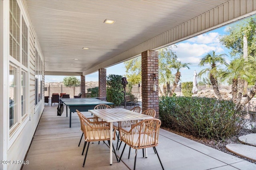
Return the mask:
[[(142, 110), (159, 118), (156, 50), (254, 14), (255, 0), (0, 0), (0, 160), (20, 161), (0, 169), (84, 169), (78, 116), (70, 128), (57, 106), (44, 106), (45, 75), (81, 76), (83, 98), (85, 76), (98, 72), (106, 97), (106, 68), (141, 55)], [(166, 169), (256, 169), (162, 129), (158, 150)], [(85, 168), (132, 168), (134, 152), (112, 166), (108, 153), (92, 144)], [(137, 161), (161, 168), (152, 149)]]

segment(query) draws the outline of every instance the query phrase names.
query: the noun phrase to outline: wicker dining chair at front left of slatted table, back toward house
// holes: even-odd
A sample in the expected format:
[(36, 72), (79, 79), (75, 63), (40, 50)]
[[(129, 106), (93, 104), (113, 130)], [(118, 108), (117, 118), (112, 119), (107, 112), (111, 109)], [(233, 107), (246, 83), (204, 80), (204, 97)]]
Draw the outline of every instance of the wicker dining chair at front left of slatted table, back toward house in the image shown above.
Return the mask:
[[(110, 126), (105, 126), (106, 122), (89, 122), (88, 119), (83, 118), (82, 113), (80, 113), (78, 110), (76, 110), (76, 111), (77, 111), (77, 114), (79, 115), (79, 118), (82, 121), (82, 129), (84, 132), (85, 146), (86, 146), (86, 143), (88, 142), (86, 153), (84, 156), (84, 163), (83, 163), (83, 167), (84, 167), (86, 157), (88, 154), (88, 149), (90, 146), (90, 142), (108, 141), (108, 143), (110, 144), (110, 133), (113, 133), (113, 140), (115, 140), (116, 139), (116, 135), (115, 135), (116, 128), (114, 127), (114, 131), (112, 131), (112, 129), (110, 129)], [(113, 150), (116, 155), (114, 145), (113, 145)], [(118, 161), (117, 156), (116, 156), (116, 160)]]

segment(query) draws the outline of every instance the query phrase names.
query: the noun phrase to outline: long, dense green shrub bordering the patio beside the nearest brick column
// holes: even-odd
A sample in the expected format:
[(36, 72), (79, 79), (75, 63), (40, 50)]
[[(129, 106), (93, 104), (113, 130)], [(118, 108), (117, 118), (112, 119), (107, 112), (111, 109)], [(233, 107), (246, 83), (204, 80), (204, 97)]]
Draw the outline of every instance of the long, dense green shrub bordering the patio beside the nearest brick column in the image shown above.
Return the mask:
[(166, 97), (159, 101), (162, 126), (196, 137), (224, 139), (244, 126), (246, 111), (215, 98)]

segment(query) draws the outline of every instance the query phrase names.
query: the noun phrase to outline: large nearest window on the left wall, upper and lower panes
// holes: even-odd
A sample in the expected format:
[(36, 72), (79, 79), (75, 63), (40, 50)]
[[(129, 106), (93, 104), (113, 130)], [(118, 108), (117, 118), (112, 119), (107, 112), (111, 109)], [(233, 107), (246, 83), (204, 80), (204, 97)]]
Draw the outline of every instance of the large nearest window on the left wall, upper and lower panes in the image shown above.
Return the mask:
[(28, 26), (16, 0), (10, 0), (9, 127), (28, 115)]

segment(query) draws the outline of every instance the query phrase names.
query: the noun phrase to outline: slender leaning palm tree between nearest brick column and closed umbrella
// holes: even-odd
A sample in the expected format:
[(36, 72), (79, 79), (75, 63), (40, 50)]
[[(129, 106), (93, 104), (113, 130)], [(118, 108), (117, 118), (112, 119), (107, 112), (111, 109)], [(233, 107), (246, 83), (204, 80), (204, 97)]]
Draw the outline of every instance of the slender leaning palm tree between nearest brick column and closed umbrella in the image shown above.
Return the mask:
[(173, 86), (172, 86), (172, 91), (170, 92), (169, 96), (172, 96), (172, 94), (174, 93), (174, 91), (175, 91), (175, 89), (176, 89), (176, 87), (178, 85), (178, 82), (180, 81), (180, 76), (181, 76), (180, 69), (181, 68), (188, 68), (188, 69), (190, 69), (188, 67), (189, 64), (190, 63), (181, 63), (180, 61), (177, 61), (177, 60), (175, 60), (172, 63), (171, 67), (174, 68), (174, 70), (176, 70), (176, 74), (175, 74), (175, 79), (174, 79)]

